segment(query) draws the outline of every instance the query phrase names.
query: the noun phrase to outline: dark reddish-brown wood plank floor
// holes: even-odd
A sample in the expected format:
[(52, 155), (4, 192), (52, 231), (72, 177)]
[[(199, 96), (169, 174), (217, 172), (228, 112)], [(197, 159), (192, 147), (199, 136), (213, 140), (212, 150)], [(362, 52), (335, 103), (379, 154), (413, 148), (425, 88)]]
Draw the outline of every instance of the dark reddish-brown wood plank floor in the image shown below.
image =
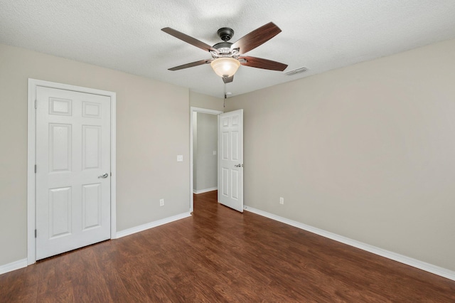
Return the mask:
[(0, 275), (0, 302), (455, 302), (454, 281), (215, 199)]

